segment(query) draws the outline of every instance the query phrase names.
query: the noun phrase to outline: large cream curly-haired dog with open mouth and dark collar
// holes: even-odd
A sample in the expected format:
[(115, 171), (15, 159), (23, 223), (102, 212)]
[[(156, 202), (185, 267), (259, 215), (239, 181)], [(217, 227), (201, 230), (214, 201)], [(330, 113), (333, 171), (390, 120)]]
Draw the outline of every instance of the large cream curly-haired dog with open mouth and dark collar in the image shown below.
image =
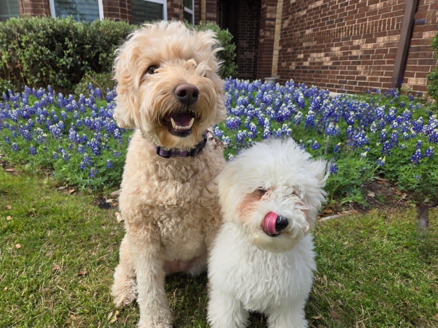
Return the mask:
[(116, 306), (137, 298), (139, 327), (171, 327), (166, 274), (206, 269), (219, 223), (215, 178), (224, 165), (206, 137), (225, 115), (216, 35), (160, 21), (116, 52), (114, 117), (136, 128), (119, 207), (126, 234), (114, 272)]

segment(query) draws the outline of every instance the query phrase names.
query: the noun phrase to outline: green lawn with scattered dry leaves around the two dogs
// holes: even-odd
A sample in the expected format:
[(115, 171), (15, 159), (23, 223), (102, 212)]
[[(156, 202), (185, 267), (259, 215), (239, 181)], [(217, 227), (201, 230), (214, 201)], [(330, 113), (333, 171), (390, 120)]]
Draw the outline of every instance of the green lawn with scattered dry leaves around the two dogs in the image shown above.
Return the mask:
[[(124, 233), (114, 213), (49, 179), (0, 171), (0, 327), (135, 327), (137, 305), (110, 298)], [(318, 223), (310, 327), (437, 327), (437, 221), (435, 208), (425, 241), (414, 209)], [(174, 327), (206, 327), (206, 283), (166, 279)], [(264, 322), (253, 315), (251, 327)]]

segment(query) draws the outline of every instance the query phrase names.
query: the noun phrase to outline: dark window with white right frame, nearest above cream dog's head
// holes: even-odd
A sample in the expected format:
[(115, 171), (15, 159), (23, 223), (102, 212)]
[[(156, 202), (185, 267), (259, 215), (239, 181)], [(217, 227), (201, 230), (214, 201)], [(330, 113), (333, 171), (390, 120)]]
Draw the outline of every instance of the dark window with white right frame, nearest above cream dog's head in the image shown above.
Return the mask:
[(132, 24), (167, 19), (166, 0), (131, 0)]

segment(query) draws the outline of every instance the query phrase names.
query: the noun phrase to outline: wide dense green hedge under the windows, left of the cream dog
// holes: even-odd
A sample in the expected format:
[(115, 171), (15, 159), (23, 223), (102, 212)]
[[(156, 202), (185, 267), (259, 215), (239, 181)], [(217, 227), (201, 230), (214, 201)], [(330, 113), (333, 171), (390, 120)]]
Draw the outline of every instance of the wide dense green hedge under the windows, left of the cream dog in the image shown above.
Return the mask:
[(17, 90), (51, 85), (70, 92), (86, 72), (110, 72), (115, 49), (135, 27), (108, 19), (10, 18), (0, 23), (0, 78)]

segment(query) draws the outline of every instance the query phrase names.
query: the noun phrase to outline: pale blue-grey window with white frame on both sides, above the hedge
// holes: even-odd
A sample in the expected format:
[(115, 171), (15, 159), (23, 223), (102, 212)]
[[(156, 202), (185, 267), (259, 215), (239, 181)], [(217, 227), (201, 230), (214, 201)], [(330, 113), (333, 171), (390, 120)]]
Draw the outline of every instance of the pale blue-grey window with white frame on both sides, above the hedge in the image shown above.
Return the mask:
[(49, 3), (52, 17), (72, 16), (86, 22), (103, 19), (102, 0), (49, 0)]

